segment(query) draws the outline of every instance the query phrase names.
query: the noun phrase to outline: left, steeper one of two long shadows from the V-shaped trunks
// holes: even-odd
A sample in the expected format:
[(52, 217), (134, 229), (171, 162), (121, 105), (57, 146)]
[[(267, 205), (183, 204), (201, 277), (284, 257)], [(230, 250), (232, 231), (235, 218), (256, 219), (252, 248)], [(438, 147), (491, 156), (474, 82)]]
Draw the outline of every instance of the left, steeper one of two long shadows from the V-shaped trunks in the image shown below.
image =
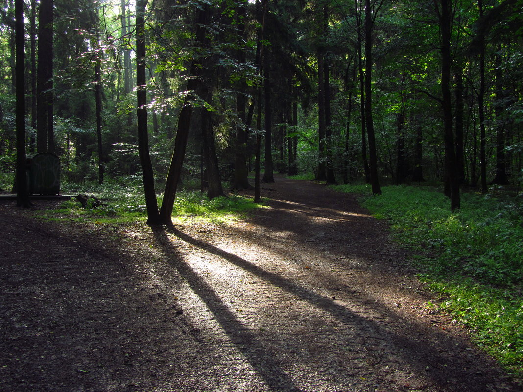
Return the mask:
[[(182, 234), (176, 229), (172, 230), (174, 230), (177, 235)], [(172, 243), (163, 228), (154, 227), (153, 233), (158, 245), (163, 251), (176, 253), (176, 248), (172, 246)], [(188, 238), (192, 239), (191, 237)], [(183, 259), (180, 257), (180, 260)], [(238, 323), (240, 320), (235, 317), (229, 307), (223, 303), (222, 299), (215, 293), (212, 287), (201, 278), (200, 275), (183, 261), (176, 263), (174, 267), (187, 281), (191, 289), (207, 305), (214, 315), (215, 320), (218, 321), (224, 332), (235, 344), (235, 347), (242, 352), (245, 359), (253, 366), (258, 375), (264, 379), (271, 390), (285, 390), (289, 392), (302, 391), (302, 389), (298, 388), (293, 383), (291, 377), (281, 369), (278, 360), (263, 348), (263, 345), (261, 345), (253, 332), (247, 329), (238, 329)]]

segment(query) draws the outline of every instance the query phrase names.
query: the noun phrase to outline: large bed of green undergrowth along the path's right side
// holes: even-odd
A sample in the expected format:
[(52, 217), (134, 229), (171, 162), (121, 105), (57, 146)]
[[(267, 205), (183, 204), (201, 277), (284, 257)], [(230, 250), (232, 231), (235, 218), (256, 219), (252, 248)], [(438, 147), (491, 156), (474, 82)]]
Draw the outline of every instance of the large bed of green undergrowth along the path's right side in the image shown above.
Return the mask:
[(461, 211), (426, 187), (337, 186), (391, 224), (415, 251), (421, 278), (445, 299), (437, 306), (467, 326), (478, 345), (523, 376), (523, 207), (517, 198), (462, 194)]

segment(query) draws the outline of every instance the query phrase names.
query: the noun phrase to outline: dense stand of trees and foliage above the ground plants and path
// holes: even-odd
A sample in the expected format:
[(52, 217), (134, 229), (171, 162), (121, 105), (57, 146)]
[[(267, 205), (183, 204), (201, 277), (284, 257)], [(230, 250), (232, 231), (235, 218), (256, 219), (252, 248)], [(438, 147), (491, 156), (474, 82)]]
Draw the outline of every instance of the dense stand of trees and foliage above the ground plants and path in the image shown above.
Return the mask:
[(58, 155), (67, 182), (143, 175), (146, 193), (200, 183), (212, 198), (222, 181), (253, 186), (259, 164), (263, 182), (312, 173), (373, 194), (441, 182), (452, 210), (460, 188), (519, 190), (518, 1), (26, 1), (21, 42), (13, 3), (1, 15), (4, 174), (18, 49), (19, 142)]

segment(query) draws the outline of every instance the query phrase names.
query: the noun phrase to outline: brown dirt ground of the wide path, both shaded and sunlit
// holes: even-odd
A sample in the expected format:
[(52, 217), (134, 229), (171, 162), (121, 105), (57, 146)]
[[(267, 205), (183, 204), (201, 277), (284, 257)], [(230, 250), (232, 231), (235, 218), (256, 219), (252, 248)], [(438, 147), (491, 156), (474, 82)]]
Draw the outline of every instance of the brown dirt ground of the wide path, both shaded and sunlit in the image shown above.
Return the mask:
[(522, 390), (353, 195), (263, 187), (269, 209), (174, 228), (0, 204), (0, 390)]

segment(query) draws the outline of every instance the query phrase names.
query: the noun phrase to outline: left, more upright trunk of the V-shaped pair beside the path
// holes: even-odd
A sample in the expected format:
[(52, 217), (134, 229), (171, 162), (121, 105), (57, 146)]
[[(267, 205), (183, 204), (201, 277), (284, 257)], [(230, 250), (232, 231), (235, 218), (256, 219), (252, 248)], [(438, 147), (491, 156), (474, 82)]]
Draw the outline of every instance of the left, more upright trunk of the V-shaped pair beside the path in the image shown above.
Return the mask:
[(147, 80), (145, 76), (145, 0), (136, 2), (136, 84), (138, 152), (142, 166), (143, 190), (147, 207), (147, 224), (159, 224), (158, 202), (147, 132)]

